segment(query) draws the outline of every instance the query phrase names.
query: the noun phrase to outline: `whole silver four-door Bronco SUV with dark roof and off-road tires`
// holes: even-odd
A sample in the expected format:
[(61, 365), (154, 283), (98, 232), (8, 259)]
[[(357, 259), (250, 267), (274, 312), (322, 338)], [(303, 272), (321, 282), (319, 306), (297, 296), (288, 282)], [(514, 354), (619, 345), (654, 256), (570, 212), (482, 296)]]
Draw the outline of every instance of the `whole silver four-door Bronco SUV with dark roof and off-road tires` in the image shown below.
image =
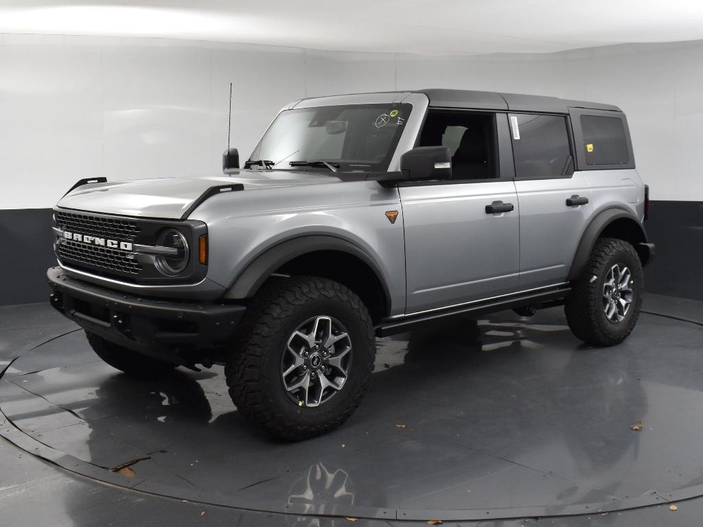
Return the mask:
[(79, 181), (51, 303), (132, 375), (224, 365), (243, 415), (301, 439), (354, 412), (375, 336), (563, 304), (633, 330), (647, 186), (611, 105), (428, 89), (299, 100), (223, 176)]

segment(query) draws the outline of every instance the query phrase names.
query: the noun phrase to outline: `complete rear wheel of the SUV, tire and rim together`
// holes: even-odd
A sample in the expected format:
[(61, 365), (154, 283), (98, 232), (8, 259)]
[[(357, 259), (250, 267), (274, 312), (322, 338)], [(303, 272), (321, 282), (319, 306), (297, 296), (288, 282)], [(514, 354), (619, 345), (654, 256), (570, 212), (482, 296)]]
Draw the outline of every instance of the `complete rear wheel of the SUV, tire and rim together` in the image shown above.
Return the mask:
[(637, 323), (643, 292), (642, 263), (635, 248), (624, 240), (600, 238), (566, 299), (569, 327), (588, 344), (619, 344)]

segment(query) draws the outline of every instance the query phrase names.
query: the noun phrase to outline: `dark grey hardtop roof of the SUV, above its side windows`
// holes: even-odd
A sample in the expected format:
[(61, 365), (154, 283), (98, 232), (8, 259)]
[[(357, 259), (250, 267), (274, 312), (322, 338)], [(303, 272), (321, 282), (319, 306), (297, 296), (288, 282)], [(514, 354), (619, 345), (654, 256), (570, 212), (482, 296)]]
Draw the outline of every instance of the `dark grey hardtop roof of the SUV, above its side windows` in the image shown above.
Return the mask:
[(621, 111), (617, 106), (610, 104), (588, 103), (585, 100), (568, 100), (557, 97), (521, 95), (520, 93), (436, 88), (415, 90), (415, 93), (424, 93), (430, 99), (430, 107), (432, 108), (472, 108), (475, 110), (548, 113), (568, 113), (569, 108)]

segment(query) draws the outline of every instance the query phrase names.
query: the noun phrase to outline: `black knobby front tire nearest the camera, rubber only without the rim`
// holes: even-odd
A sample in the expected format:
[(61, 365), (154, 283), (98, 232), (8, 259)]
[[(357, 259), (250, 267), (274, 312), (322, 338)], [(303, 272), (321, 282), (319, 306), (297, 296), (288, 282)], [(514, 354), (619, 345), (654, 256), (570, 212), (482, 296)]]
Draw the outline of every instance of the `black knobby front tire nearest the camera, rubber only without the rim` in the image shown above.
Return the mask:
[[(347, 329), (352, 362), (333, 398), (310, 408), (291, 400), (280, 377), (288, 338), (310, 317), (328, 315)], [(366, 306), (344, 285), (317, 277), (273, 280), (257, 293), (226, 360), (229, 394), (238, 410), (273, 436), (311, 438), (339, 427), (359, 406), (375, 359), (373, 323)]]

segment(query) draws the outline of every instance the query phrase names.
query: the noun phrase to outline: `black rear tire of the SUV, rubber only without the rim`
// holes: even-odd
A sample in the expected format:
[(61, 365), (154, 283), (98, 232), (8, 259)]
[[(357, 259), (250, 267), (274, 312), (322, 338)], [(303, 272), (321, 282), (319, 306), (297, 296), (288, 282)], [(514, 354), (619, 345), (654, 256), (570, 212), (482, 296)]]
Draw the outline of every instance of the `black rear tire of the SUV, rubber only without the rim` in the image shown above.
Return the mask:
[[(605, 315), (602, 291), (610, 268), (616, 263), (631, 271), (633, 299), (624, 320), (613, 323)], [(595, 279), (593, 279), (595, 277)], [(613, 346), (632, 332), (640, 315), (644, 280), (642, 263), (635, 248), (617, 238), (600, 238), (595, 242), (583, 275), (572, 283), (566, 299), (565, 313), (576, 337), (593, 346)]]

